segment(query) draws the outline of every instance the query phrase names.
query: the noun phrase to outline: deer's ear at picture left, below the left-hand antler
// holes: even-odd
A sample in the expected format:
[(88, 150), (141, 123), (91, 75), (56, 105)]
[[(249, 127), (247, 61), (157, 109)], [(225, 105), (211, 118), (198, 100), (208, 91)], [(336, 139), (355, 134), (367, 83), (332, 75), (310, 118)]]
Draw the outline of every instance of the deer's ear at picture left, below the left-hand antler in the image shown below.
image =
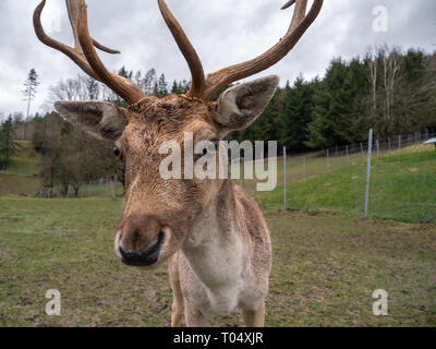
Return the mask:
[(55, 108), (63, 119), (102, 141), (117, 141), (128, 123), (125, 109), (111, 101), (61, 100)]

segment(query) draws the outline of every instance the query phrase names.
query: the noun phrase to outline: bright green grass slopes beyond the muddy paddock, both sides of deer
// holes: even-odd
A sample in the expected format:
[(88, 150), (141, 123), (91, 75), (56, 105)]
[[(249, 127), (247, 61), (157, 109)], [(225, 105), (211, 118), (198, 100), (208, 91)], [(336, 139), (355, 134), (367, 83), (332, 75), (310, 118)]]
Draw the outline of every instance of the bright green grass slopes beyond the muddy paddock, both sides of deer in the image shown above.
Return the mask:
[[(34, 196), (40, 186), (38, 155), (22, 143), (11, 167), (0, 173), (0, 196)], [(327, 167), (320, 153), (287, 158), (287, 205), (296, 209), (341, 212), (362, 217), (364, 212), (366, 159), (361, 153), (331, 154)], [(304, 159), (304, 160), (303, 160)], [(303, 164), (305, 166), (303, 167)], [(283, 207), (283, 163), (277, 161), (278, 186), (272, 192), (256, 192), (256, 180), (244, 181), (246, 191), (265, 212)], [(241, 182), (241, 181), (239, 181)], [(59, 188), (58, 188), (59, 189)], [(122, 194), (121, 185), (117, 193)], [(57, 194), (53, 189), (53, 195)], [(82, 185), (80, 196), (111, 197), (110, 184)], [(436, 151), (434, 146), (413, 145), (374, 156), (370, 190), (370, 216), (405, 222), (436, 222)]]

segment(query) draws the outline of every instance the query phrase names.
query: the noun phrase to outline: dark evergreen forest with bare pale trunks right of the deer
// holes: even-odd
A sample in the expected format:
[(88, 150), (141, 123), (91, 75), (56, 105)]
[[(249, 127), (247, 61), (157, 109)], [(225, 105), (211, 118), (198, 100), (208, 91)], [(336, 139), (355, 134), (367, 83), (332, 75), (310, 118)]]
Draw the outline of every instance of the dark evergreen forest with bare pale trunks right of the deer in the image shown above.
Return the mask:
[(379, 47), (331, 60), (323, 79), (279, 88), (262, 118), (232, 136), (306, 152), (436, 129), (436, 53)]

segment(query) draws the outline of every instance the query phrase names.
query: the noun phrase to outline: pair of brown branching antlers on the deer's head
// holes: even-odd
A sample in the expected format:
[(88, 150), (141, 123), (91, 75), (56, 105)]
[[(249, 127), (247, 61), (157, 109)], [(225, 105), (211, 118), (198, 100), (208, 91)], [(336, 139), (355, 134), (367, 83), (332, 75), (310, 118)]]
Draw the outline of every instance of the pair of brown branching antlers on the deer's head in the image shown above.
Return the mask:
[[(145, 98), (146, 96), (140, 86), (129, 79), (109, 72), (99, 59), (95, 47), (109, 53), (119, 53), (119, 51), (107, 48), (90, 37), (85, 0), (65, 1), (74, 35), (74, 48), (52, 39), (45, 33), (40, 16), (46, 0), (40, 2), (34, 13), (35, 33), (39, 40), (70, 57), (85, 73), (105, 83), (130, 105)], [(202, 61), (183, 28), (168, 9), (166, 1), (158, 0), (164, 20), (191, 70), (192, 86), (187, 95), (206, 100), (210, 99), (218, 89), (227, 84), (257, 74), (279, 62), (296, 45), (318, 16), (323, 2), (324, 0), (314, 0), (311, 10), (306, 14), (307, 0), (288, 1), (281, 9), (284, 10), (295, 4), (295, 10), (288, 32), (278, 44), (255, 59), (221, 69), (205, 76)]]

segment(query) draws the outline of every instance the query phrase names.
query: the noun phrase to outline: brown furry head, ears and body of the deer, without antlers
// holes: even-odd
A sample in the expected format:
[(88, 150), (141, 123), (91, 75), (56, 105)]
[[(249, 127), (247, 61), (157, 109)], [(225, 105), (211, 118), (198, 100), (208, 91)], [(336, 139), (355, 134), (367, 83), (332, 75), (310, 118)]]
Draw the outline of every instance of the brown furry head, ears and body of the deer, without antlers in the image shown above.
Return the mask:
[[(235, 306), (243, 309), (247, 325), (264, 324), (271, 251), (259, 208), (229, 179), (161, 178), (159, 165), (168, 155), (159, 148), (175, 141), (183, 159), (185, 132), (197, 143), (250, 125), (277, 84), (278, 79), (270, 76), (235, 86), (218, 103), (171, 95), (143, 98), (128, 109), (107, 103), (56, 106), (65, 119), (94, 135), (113, 140), (121, 134), (116, 146), (125, 161), (126, 192), (116, 253), (121, 257), (121, 246), (140, 253), (164, 236), (155, 265), (169, 260), (172, 326), (180, 325), (183, 313), (189, 326), (207, 326), (210, 314)], [(183, 173), (183, 160), (181, 167)]]

